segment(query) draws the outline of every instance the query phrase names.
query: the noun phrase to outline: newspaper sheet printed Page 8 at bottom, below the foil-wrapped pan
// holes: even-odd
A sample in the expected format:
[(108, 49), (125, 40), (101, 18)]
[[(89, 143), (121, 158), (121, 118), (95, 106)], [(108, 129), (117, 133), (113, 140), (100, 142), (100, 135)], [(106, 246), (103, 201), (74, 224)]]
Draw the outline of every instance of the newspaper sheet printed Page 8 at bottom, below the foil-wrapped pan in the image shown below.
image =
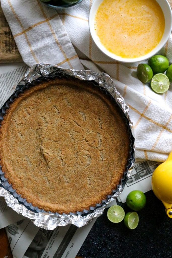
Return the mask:
[(5, 229), (14, 258), (74, 258), (95, 221), (81, 228), (69, 224), (45, 230), (24, 219)]

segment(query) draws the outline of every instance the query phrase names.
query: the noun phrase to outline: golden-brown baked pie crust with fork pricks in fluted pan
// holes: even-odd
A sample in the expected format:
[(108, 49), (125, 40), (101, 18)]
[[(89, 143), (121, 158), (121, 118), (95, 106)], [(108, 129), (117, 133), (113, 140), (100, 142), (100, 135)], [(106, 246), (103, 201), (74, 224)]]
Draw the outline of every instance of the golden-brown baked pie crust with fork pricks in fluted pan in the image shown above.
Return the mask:
[(120, 183), (128, 126), (118, 106), (91, 83), (42, 82), (15, 98), (3, 119), (2, 171), (32, 205), (75, 213), (100, 203)]

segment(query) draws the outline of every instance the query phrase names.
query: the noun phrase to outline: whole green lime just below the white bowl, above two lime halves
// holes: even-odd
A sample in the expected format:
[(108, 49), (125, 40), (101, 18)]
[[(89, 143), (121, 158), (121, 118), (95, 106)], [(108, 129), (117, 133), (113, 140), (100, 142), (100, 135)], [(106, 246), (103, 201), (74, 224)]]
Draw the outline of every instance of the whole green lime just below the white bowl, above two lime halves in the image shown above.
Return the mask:
[(163, 55), (154, 55), (149, 59), (148, 65), (152, 68), (154, 74), (159, 74), (167, 70), (169, 61)]

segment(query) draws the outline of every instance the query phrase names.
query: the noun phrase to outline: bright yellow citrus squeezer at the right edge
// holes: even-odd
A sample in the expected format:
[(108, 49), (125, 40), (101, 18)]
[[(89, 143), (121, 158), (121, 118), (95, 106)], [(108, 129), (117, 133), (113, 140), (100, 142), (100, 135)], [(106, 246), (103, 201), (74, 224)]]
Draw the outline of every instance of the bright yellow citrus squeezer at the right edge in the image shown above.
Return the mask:
[(172, 218), (172, 151), (167, 160), (160, 164), (152, 174), (152, 190)]

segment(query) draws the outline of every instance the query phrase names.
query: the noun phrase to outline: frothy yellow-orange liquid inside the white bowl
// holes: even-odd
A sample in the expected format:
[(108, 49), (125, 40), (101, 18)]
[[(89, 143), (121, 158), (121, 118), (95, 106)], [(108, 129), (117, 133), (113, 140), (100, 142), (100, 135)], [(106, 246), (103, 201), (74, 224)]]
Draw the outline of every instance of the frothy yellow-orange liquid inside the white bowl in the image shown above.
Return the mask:
[(165, 18), (155, 0), (104, 0), (95, 16), (102, 45), (123, 58), (148, 54), (160, 42)]

